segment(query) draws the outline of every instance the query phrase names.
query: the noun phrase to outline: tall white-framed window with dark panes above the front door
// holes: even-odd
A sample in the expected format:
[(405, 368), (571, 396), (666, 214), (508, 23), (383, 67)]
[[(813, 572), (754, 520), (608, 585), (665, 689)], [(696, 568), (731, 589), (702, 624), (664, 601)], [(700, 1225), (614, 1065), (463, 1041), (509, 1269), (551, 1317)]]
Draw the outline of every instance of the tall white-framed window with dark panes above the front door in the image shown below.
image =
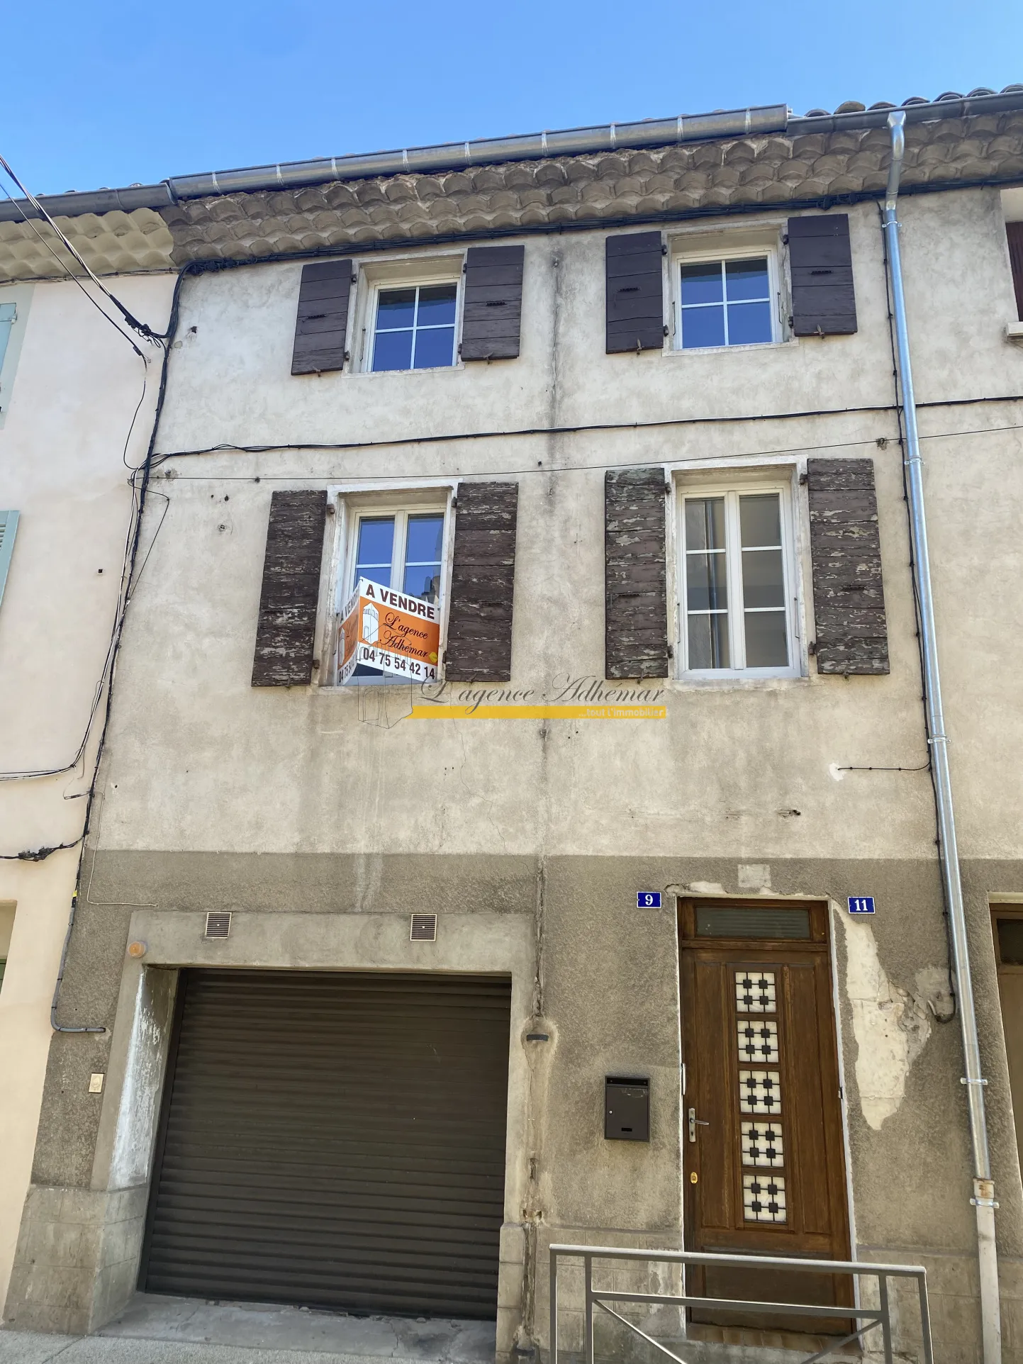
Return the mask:
[(798, 675), (787, 490), (686, 492), (681, 522), (685, 671)]

